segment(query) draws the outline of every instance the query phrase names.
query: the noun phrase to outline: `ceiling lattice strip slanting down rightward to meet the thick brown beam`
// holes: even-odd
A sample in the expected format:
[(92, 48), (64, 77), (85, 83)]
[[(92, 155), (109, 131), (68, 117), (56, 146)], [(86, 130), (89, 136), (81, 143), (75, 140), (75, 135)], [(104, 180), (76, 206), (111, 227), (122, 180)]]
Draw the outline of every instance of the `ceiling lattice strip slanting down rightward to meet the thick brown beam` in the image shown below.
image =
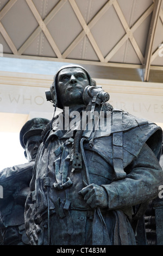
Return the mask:
[(134, 47), (134, 50), (135, 50), (135, 52), (136, 52), (138, 58), (140, 59), (140, 62), (143, 63), (143, 55), (142, 55), (142, 53), (141, 53), (141, 51), (140, 51), (139, 46), (137, 45), (137, 42), (136, 42), (136, 40), (135, 40), (135, 38), (134, 38), (133, 33), (131, 32), (131, 30), (130, 30), (130, 28), (129, 28), (129, 26), (128, 26), (128, 23), (127, 23), (127, 21), (126, 21), (124, 15), (123, 15), (123, 13), (122, 13), (122, 10), (121, 10), (121, 8), (120, 8), (120, 5), (117, 3), (117, 0), (113, 3), (113, 6), (114, 6), (114, 8), (115, 8), (115, 10), (116, 10), (116, 13), (117, 13), (117, 15), (118, 15), (118, 17), (119, 17), (121, 23), (122, 23), (122, 26), (123, 26), (124, 30), (126, 31), (126, 33), (127, 33), (127, 35), (128, 35), (128, 38), (129, 38), (131, 44), (132, 44), (133, 47)]

